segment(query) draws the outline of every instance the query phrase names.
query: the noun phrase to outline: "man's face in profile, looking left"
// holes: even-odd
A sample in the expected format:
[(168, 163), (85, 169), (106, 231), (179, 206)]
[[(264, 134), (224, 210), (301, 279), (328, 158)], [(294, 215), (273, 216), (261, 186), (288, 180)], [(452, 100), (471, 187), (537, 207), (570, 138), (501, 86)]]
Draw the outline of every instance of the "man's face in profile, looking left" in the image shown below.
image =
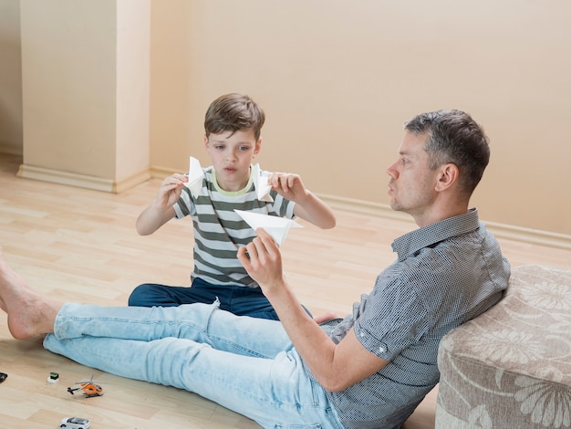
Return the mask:
[(427, 135), (406, 131), (400, 143), (399, 158), (387, 168), (390, 207), (412, 215), (417, 224), (430, 211), (436, 197), (437, 170), (429, 169), (424, 150)]

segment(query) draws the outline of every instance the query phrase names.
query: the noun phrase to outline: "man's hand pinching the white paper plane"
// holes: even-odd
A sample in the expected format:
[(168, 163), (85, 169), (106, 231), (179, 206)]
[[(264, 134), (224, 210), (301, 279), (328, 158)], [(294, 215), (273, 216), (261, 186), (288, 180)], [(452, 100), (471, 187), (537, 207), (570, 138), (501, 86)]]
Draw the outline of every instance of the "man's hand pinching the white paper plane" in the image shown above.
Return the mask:
[(255, 232), (258, 236), (238, 249), (238, 260), (266, 293), (284, 285), (282, 256), (274, 239), (264, 229), (258, 228)]

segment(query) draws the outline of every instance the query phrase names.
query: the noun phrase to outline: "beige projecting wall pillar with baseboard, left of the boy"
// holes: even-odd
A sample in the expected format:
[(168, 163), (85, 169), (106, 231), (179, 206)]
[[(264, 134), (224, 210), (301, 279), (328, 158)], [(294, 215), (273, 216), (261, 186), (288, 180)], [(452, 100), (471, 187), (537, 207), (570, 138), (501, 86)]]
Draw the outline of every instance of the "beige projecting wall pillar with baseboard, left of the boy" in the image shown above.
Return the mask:
[(21, 0), (18, 175), (119, 192), (149, 178), (150, 0)]

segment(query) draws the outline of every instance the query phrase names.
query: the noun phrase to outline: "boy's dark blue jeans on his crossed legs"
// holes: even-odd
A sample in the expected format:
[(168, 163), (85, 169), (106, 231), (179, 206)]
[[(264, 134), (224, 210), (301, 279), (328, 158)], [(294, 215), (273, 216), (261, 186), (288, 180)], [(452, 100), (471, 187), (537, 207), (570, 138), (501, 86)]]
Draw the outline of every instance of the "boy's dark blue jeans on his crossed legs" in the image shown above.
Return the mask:
[(246, 288), (239, 285), (213, 285), (202, 278), (195, 278), (192, 287), (165, 286), (144, 283), (134, 288), (129, 297), (133, 307), (174, 307), (182, 304), (202, 302), (210, 304), (220, 301), (220, 309), (237, 316), (277, 320), (274, 307), (265, 298), (260, 288)]

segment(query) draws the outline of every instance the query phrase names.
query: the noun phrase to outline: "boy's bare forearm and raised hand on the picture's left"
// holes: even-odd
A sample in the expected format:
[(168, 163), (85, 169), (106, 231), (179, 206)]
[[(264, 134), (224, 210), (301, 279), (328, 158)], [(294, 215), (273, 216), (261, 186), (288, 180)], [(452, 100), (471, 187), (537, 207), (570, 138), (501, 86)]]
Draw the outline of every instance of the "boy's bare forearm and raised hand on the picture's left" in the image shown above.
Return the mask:
[(151, 235), (175, 216), (172, 205), (179, 200), (186, 182), (188, 177), (183, 174), (172, 174), (161, 182), (155, 199), (137, 218), (139, 235)]

